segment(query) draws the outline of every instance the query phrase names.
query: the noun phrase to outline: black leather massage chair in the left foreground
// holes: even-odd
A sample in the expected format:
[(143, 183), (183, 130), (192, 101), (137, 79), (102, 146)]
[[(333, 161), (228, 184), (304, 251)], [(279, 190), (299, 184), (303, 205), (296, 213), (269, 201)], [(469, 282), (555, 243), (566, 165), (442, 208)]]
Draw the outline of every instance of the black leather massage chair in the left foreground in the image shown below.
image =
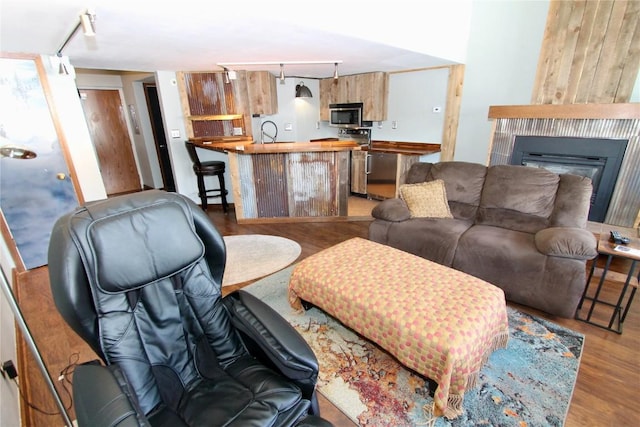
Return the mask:
[(74, 374), (81, 427), (331, 426), (319, 417), (312, 350), (251, 294), (223, 298), (224, 267), (222, 236), (175, 193), (119, 196), (58, 219), (53, 297), (102, 359)]

